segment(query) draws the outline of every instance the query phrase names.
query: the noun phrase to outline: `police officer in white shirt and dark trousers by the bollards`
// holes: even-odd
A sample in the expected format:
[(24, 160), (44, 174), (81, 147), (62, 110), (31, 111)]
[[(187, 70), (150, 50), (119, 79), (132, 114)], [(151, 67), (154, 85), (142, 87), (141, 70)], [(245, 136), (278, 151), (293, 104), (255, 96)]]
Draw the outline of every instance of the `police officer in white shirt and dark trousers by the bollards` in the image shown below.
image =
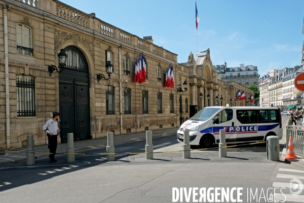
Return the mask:
[(53, 118), (48, 120), (46, 124), (42, 127), (44, 131), (47, 132), (48, 136), (48, 141), (49, 141), (49, 149), (50, 149), (50, 163), (56, 162), (55, 160), (55, 153), (57, 149), (57, 135), (58, 132), (60, 132), (58, 128), (58, 123), (57, 121), (59, 120), (59, 113), (58, 112), (53, 112)]

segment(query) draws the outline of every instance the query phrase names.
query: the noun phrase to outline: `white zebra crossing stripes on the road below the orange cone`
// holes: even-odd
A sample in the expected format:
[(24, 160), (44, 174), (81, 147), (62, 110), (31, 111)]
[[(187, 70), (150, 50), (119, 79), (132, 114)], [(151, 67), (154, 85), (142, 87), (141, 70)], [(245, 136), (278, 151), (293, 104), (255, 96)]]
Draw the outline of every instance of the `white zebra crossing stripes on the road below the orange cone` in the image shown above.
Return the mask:
[[(276, 193), (273, 202), (286, 201), (286, 202), (304, 202), (304, 185), (300, 184), (300, 180), (304, 180), (302, 170), (294, 170), (291, 168), (279, 168), (278, 174), (276, 174), (276, 180), (272, 186), (274, 188), (285, 188), (283, 193)], [(299, 182), (294, 182), (294, 179), (298, 179)], [(293, 194), (293, 192), (299, 191), (299, 194)], [(269, 199), (272, 199), (269, 197)]]

